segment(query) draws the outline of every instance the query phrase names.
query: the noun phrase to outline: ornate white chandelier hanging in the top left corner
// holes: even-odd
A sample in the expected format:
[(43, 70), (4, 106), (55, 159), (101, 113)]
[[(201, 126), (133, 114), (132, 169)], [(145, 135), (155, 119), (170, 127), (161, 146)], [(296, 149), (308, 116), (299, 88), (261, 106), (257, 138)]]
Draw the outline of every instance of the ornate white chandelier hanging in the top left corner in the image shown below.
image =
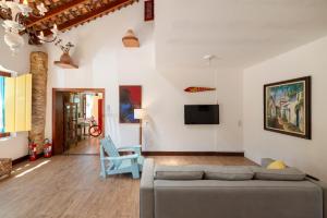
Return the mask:
[(59, 33), (57, 25), (55, 24), (51, 28), (52, 39), (48, 39), (40, 32), (39, 35), (31, 28), (26, 27), (28, 17), (41, 17), (48, 12), (44, 3), (36, 5), (36, 10), (33, 10), (27, 0), (23, 3), (20, 0), (7, 1), (0, 0), (0, 15), (2, 16), (4, 27), (4, 41), (10, 47), (13, 55), (15, 55), (22, 46), (24, 46), (24, 38), (22, 35), (27, 33), (29, 36), (29, 41), (37, 38), (38, 43), (52, 43), (57, 39)]

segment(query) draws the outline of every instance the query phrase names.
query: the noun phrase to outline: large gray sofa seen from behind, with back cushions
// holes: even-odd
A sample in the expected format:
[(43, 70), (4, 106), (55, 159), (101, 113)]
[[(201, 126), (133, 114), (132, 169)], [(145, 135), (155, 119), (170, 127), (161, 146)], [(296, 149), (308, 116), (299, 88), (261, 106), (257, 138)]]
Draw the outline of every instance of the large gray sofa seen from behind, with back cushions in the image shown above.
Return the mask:
[[(241, 177), (230, 177), (229, 169)], [(253, 171), (252, 179), (247, 178), (249, 170)], [(140, 218), (327, 218), (326, 186), (307, 178), (299, 180), (299, 173), (294, 180), (275, 181), (264, 172), (262, 180), (256, 178), (256, 170), (259, 175), (258, 167), (162, 168), (146, 159)], [(202, 178), (199, 171), (204, 172)], [(207, 173), (210, 171), (214, 173)]]

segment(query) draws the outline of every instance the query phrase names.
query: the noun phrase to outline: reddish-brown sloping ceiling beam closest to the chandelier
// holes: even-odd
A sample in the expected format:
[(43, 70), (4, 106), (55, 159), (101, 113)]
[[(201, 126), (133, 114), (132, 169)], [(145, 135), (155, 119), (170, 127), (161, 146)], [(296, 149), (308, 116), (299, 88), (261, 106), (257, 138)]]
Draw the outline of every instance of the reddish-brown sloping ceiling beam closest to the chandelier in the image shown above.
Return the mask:
[(52, 10), (50, 10), (49, 12), (46, 13), (46, 15), (39, 17), (39, 19), (34, 19), (34, 17), (29, 17), (29, 22), (27, 23), (27, 27), (31, 27), (31, 26), (34, 26), (35, 24), (38, 24), (40, 22), (44, 22), (44, 21), (47, 21), (51, 17), (55, 17), (59, 14), (61, 14), (62, 12), (64, 11), (68, 11), (78, 4), (82, 4), (84, 2), (86, 2), (88, 0), (72, 0), (72, 1), (69, 1), (64, 4), (61, 4)]

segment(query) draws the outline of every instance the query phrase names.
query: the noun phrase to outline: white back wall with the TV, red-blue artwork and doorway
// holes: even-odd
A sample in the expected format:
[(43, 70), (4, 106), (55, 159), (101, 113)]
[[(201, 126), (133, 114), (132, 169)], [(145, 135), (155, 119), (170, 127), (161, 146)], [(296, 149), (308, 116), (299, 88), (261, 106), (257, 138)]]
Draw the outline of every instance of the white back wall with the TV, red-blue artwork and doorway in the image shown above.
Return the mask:
[[(53, 64), (61, 51), (52, 45), (49, 52), (48, 101), (52, 87), (106, 88), (106, 130), (118, 144), (137, 144), (138, 125), (119, 124), (119, 85), (142, 85), (143, 107), (149, 114), (145, 134), (147, 150), (242, 150), (242, 71), (198, 69), (157, 70), (154, 24), (143, 21), (143, 1), (74, 28), (62, 38), (76, 44), (72, 57), (78, 70), (62, 70)], [(123, 48), (121, 38), (133, 28), (141, 48)], [(201, 57), (199, 57), (201, 58)], [(216, 81), (215, 81), (216, 77)], [(187, 86), (215, 86), (217, 94), (186, 94)], [(215, 104), (221, 107), (218, 126), (183, 124), (185, 104)], [(51, 105), (47, 109), (47, 136), (51, 136)]]

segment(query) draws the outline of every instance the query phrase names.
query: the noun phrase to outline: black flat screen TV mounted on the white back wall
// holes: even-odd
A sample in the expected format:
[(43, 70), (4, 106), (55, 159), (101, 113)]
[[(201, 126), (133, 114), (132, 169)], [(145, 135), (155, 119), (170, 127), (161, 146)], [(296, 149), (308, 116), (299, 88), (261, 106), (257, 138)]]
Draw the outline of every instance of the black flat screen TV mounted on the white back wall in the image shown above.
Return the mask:
[(185, 124), (219, 124), (219, 105), (185, 105)]

